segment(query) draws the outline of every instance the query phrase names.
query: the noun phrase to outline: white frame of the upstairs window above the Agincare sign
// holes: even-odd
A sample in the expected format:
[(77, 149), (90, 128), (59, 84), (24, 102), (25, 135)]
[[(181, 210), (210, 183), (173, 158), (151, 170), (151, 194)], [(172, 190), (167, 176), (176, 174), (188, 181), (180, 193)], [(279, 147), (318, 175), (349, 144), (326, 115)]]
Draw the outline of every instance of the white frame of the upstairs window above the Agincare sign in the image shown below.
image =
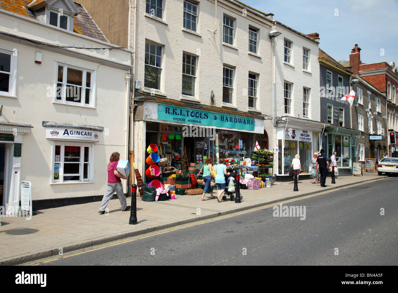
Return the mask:
[[(64, 71), (62, 74), (62, 96), (60, 100), (57, 100), (57, 95), (59, 95), (58, 93), (58, 83), (60, 83), (58, 81), (58, 67), (59, 66), (63, 66), (64, 67)], [(70, 69), (76, 69), (76, 70), (80, 70), (83, 71), (82, 73), (82, 97), (80, 98), (80, 102), (73, 102), (73, 101), (67, 101), (66, 100), (66, 90), (67, 87), (70, 86), (66, 83), (67, 81), (67, 73), (68, 71), (65, 70), (65, 68), (70, 68)], [(87, 77), (87, 73), (90, 73), (90, 90), (91, 90), (91, 98), (90, 98), (90, 102), (89, 104), (86, 104), (86, 77)], [(80, 87), (80, 86), (77, 86)], [(66, 104), (66, 105), (74, 105), (74, 106), (81, 106), (81, 107), (89, 107), (89, 108), (95, 108), (96, 106), (96, 88), (97, 88), (97, 70), (96, 69), (91, 69), (91, 68), (86, 68), (86, 67), (80, 67), (78, 65), (73, 65), (70, 63), (65, 63), (65, 62), (61, 62), (61, 61), (55, 61), (55, 82), (54, 82), (54, 103), (58, 103), (58, 104)]]

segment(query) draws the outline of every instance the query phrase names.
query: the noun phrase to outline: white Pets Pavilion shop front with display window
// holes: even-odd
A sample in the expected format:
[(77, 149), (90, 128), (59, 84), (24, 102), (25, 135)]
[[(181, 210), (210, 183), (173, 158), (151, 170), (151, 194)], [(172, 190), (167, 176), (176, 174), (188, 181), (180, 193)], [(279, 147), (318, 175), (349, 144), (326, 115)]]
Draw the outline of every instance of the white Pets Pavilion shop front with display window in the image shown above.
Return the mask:
[(282, 120), (277, 121), (276, 143), (279, 149), (275, 159), (277, 180), (292, 180), (289, 171), (295, 155), (300, 156), (302, 170), (300, 179), (310, 178), (311, 171), (309, 168), (313, 154), (320, 149), (318, 138), (323, 129), (329, 125), (291, 117), (282, 117)]

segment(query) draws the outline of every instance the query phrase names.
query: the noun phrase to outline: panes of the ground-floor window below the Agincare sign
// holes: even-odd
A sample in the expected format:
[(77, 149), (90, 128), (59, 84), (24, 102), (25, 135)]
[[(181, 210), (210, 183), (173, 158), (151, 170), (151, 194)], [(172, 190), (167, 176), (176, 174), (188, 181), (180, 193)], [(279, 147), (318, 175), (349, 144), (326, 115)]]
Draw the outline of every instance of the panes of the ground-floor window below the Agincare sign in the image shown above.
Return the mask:
[(93, 181), (92, 147), (55, 144), (52, 182)]

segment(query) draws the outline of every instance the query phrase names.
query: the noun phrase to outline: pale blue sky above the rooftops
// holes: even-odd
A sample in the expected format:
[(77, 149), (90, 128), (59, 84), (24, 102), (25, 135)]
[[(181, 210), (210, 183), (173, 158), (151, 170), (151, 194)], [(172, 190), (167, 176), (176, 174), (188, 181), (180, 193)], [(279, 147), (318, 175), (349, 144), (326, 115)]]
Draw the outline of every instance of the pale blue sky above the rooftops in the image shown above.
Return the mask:
[(240, 1), (302, 33), (319, 33), (319, 47), (337, 61), (358, 44), (363, 63), (394, 61), (398, 67), (398, 0)]

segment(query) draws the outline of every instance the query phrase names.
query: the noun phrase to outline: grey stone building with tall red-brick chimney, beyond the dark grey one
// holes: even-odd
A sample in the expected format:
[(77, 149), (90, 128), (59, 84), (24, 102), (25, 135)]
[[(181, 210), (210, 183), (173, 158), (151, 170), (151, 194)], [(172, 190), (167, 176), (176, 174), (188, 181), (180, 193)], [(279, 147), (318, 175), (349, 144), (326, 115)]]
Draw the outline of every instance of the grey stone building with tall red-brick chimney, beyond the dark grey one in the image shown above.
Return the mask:
[[(351, 85), (355, 91), (351, 123), (352, 128), (361, 131), (358, 139), (358, 161), (375, 158), (378, 162), (387, 152), (388, 144), (386, 95), (359, 76), (362, 64), (360, 51), (361, 48), (355, 44), (349, 59), (339, 62), (354, 73), (351, 77)], [(370, 140), (371, 135), (382, 135), (382, 140)]]

